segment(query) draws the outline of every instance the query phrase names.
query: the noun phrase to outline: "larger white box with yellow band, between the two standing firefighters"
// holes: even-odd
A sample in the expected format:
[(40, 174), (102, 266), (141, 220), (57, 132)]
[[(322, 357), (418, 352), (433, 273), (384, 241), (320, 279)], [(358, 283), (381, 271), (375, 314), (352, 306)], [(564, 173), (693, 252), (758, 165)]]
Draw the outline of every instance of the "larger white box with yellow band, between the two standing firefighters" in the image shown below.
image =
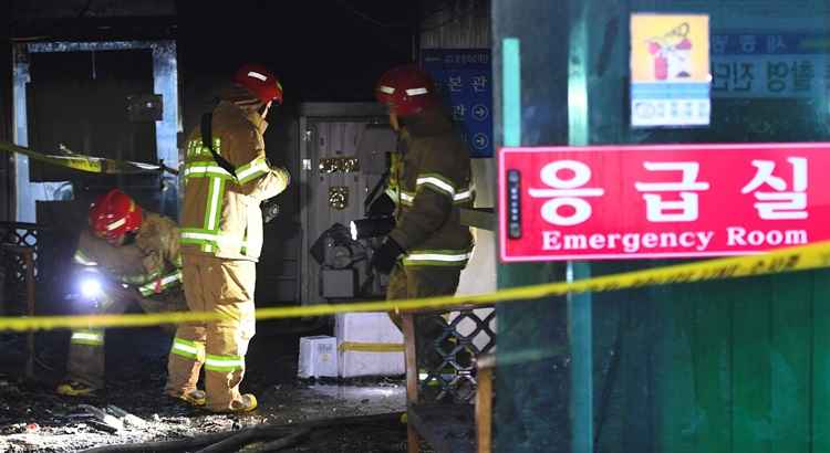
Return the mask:
[[(406, 372), (404, 336), (385, 312), (336, 315), (334, 335), (339, 347), (338, 371), (342, 378), (401, 376)], [(361, 345), (396, 345), (401, 350), (381, 352), (349, 349), (349, 346), (360, 348)], [(346, 346), (345, 350), (341, 350), (343, 346)]]

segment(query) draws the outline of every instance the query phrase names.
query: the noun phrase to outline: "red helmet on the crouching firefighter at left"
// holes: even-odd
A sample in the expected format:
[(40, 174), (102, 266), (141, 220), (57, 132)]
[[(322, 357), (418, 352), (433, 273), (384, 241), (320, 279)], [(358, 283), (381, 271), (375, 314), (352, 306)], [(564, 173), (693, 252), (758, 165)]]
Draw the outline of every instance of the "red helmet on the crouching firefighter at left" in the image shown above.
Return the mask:
[(100, 238), (118, 239), (141, 228), (142, 208), (128, 194), (113, 189), (90, 206), (90, 225)]

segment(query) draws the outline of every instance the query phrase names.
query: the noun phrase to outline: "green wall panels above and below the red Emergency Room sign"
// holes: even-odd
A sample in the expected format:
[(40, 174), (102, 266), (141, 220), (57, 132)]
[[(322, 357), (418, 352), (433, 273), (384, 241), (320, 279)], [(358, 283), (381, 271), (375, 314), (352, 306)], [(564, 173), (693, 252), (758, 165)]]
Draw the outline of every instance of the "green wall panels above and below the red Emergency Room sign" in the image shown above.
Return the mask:
[[(631, 12), (708, 13), (713, 32), (830, 35), (826, 0), (494, 0), (496, 86), (502, 40), (521, 49), (521, 145), (573, 143), (580, 119), (590, 144), (830, 140), (827, 96), (715, 98), (710, 127), (632, 130)], [(580, 25), (585, 36), (572, 33)], [(580, 65), (582, 109), (568, 103), (568, 88), (584, 83), (574, 80)], [(594, 262), (590, 272), (673, 263)], [(501, 287), (563, 276), (556, 264), (499, 266)], [(496, 376), (497, 451), (830, 452), (829, 271), (595, 294), (585, 306), (592, 373), (583, 381), (573, 365), (584, 359), (574, 349), (584, 331), (569, 325), (566, 301), (499, 308), (497, 361), (510, 365)], [(548, 354), (511, 362), (528, 350)]]

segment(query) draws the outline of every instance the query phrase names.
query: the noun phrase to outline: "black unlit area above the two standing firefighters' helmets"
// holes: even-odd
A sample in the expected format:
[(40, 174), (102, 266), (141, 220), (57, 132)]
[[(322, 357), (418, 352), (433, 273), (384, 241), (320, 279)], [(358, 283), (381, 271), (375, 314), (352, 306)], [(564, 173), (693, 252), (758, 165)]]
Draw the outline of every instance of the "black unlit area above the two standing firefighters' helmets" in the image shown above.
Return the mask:
[(414, 11), (405, 4), (248, 0), (227, 8), (179, 1), (184, 82), (191, 73), (258, 61), (282, 78), (288, 103), (370, 101), (384, 70), (411, 61)]

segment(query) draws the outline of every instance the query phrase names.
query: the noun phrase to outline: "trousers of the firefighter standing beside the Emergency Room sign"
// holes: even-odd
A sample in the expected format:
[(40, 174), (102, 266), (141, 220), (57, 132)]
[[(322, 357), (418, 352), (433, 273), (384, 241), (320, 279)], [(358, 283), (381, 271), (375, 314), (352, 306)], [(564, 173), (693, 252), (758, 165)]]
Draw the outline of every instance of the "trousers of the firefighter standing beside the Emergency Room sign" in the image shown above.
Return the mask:
[[(390, 274), (386, 299), (407, 299), (433, 296), (452, 296), (458, 289), (461, 268), (457, 266), (403, 266), (396, 264)], [(401, 316), (390, 312), (390, 318), (401, 328)], [(416, 355), (419, 367), (436, 368), (442, 358), (434, 343), (446, 327), (437, 315), (415, 316)]]

